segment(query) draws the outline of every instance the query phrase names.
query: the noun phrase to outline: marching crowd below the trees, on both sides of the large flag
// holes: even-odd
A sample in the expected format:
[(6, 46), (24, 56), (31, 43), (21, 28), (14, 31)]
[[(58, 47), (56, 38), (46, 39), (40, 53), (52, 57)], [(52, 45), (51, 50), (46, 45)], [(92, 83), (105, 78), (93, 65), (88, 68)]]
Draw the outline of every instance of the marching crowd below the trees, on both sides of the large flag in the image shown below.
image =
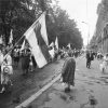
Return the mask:
[[(69, 48), (57, 50), (54, 46), (54, 57), (50, 57), (49, 63), (57, 60), (58, 56), (60, 58), (66, 58), (68, 55), (78, 57), (80, 54), (78, 50), (71, 50)], [(13, 85), (11, 76), (14, 69), (18, 68), (19, 62), (22, 64), (23, 76), (26, 76), (29, 71), (33, 71), (38, 67), (29, 46), (25, 46), (24, 50), (21, 50), (18, 45), (13, 50), (10, 46), (0, 50), (0, 82), (2, 86), (0, 93), (6, 91), (8, 85)]]

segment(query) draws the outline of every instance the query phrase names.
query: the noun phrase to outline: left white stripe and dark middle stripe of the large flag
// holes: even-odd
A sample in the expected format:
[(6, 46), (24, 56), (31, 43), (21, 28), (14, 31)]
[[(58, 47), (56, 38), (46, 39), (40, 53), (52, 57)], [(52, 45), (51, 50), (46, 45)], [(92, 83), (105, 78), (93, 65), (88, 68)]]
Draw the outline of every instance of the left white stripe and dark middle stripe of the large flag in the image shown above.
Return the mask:
[[(44, 18), (44, 13), (31, 25), (31, 27), (24, 33), (26, 40), (28, 41), (37, 65), (39, 68), (42, 68), (48, 64), (50, 58), (49, 49), (46, 45), (46, 37), (44, 38), (42, 35), (42, 30), (44, 26), (42, 21)], [(43, 29), (43, 32), (45, 29)]]

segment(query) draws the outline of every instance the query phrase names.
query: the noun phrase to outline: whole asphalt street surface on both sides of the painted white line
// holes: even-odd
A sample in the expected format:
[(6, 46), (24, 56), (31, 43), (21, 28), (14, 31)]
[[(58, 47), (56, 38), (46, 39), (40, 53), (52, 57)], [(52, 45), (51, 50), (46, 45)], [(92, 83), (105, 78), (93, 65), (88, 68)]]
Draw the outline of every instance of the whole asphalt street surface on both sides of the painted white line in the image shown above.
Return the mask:
[[(26, 108), (108, 108), (108, 73), (100, 72), (100, 60), (93, 60), (91, 69), (85, 67), (84, 56), (76, 58), (76, 62), (75, 86), (70, 93), (66, 94), (66, 84), (57, 80)], [(22, 76), (18, 66), (12, 78), (12, 93), (0, 95), (0, 108), (15, 108), (25, 102), (56, 78), (63, 64), (64, 59), (51, 63), (27, 77)]]

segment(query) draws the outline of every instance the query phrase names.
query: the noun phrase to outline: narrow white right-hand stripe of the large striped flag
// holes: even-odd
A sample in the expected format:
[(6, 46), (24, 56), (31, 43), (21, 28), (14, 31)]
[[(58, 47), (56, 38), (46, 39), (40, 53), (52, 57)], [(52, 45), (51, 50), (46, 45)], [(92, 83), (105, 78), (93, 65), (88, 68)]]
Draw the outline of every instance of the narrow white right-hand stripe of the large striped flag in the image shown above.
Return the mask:
[(42, 17), (39, 19), (41, 24), (41, 36), (45, 41), (46, 45), (49, 45), (48, 35), (46, 35), (46, 27), (45, 27), (45, 13), (42, 14)]

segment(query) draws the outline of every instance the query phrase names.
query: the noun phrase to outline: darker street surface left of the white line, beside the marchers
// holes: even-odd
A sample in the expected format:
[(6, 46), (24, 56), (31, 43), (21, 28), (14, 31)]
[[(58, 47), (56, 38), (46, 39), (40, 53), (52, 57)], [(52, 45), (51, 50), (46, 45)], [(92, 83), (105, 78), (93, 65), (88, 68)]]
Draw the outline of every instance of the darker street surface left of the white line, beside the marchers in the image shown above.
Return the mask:
[[(59, 65), (58, 65), (59, 64)], [(21, 66), (14, 70), (12, 77), (13, 87), (11, 94), (0, 94), (0, 108), (14, 108), (17, 104), (27, 99), (31, 94), (39, 91), (48, 82), (50, 82), (55, 75), (60, 72), (64, 60), (48, 64), (42, 69), (28, 73), (27, 77), (22, 76)], [(16, 99), (19, 103), (16, 103)]]

